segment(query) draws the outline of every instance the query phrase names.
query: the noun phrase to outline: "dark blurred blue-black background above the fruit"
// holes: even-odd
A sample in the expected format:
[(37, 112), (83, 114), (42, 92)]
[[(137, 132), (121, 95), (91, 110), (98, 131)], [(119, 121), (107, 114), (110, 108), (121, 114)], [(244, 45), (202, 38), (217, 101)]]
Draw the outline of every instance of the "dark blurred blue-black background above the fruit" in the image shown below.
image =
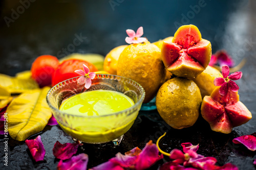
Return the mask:
[[(190, 23), (211, 42), (213, 53), (225, 48), (240, 62), (249, 57), (248, 51), (239, 51), (246, 43), (243, 36), (255, 38), (250, 26), (255, 23), (255, 4), (238, 0), (2, 0), (0, 72), (14, 76), (45, 54), (105, 56), (115, 46), (126, 44), (126, 29), (142, 26), (143, 36), (154, 42)], [(79, 41), (74, 42), (77, 37)]]

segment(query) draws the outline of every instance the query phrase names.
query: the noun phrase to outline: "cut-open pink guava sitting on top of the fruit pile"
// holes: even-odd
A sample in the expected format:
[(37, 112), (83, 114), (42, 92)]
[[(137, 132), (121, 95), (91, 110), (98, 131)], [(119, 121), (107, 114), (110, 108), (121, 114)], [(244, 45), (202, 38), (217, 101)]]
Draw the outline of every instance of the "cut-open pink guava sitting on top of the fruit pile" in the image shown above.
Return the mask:
[(194, 25), (181, 26), (172, 42), (163, 41), (161, 56), (166, 69), (178, 77), (196, 77), (209, 64), (210, 41)]

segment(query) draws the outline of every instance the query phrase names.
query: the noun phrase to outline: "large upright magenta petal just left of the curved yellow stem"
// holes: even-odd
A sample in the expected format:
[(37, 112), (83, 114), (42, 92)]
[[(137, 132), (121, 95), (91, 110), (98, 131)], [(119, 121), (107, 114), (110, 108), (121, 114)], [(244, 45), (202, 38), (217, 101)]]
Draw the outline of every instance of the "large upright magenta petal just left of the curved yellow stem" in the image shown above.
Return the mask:
[(158, 155), (159, 150), (157, 145), (150, 140), (146, 143), (141, 153), (138, 155), (137, 162), (135, 164), (135, 169), (146, 169), (151, 167), (158, 160), (163, 158), (163, 155)]

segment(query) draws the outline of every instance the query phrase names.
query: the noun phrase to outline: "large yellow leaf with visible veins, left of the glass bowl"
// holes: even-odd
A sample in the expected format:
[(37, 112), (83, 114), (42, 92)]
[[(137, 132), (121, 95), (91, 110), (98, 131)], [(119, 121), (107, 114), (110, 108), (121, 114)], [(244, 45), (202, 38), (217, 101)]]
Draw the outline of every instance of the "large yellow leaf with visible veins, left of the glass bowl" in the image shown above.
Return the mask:
[(52, 116), (46, 95), (50, 87), (20, 94), (7, 108), (8, 132), (15, 140), (26, 140), (42, 131)]

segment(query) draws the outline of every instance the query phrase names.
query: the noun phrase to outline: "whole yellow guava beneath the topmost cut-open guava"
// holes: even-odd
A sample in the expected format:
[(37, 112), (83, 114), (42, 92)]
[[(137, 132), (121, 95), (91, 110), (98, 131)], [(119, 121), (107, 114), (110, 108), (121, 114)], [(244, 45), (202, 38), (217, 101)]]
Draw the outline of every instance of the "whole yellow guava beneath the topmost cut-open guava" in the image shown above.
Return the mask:
[(158, 113), (175, 129), (193, 126), (198, 119), (201, 103), (198, 86), (186, 78), (166, 81), (158, 90), (156, 97)]

